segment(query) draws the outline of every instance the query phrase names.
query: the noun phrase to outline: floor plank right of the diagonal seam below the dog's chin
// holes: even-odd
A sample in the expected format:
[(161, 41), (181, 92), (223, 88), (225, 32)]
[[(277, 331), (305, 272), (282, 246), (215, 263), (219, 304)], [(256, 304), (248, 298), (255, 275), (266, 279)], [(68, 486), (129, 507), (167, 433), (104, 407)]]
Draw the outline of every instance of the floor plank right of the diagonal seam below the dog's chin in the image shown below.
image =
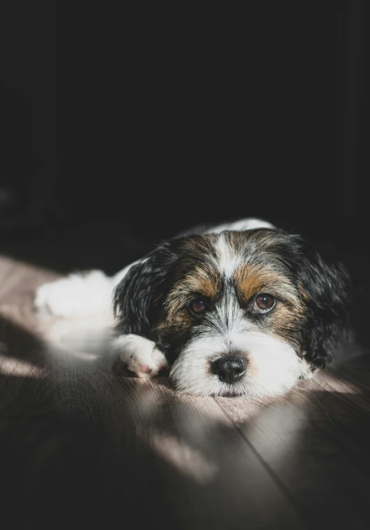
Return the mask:
[(367, 528), (369, 459), (355, 447), (362, 436), (369, 447), (369, 394), (338, 391), (329, 373), (253, 417), (230, 400), (220, 405), (313, 527)]

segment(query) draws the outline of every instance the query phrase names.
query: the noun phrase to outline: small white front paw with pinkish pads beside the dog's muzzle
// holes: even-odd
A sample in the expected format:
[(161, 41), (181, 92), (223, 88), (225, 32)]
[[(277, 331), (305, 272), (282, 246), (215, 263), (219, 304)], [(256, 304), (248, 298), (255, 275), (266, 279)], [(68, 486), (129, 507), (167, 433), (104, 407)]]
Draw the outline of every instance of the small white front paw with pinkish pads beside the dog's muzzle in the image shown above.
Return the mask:
[(119, 353), (125, 368), (139, 378), (152, 378), (168, 366), (165, 355), (155, 342), (139, 335), (120, 335), (112, 342), (113, 351)]

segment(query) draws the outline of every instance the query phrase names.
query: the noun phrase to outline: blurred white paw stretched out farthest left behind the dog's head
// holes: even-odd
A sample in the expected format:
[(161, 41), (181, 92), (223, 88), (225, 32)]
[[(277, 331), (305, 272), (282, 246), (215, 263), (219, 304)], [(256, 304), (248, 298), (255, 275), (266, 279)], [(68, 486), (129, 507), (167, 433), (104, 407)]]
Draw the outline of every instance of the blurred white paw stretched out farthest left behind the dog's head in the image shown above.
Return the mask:
[(70, 274), (36, 290), (35, 306), (41, 313), (59, 317), (82, 317), (111, 310), (112, 283), (95, 270)]

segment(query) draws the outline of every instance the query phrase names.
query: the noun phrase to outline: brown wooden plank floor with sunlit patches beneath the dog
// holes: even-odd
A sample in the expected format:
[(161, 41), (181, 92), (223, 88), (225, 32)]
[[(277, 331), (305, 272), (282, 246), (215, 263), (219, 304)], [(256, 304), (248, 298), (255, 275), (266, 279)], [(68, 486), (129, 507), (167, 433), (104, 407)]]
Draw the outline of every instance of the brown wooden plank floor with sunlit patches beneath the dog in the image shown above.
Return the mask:
[(112, 371), (108, 316), (36, 315), (55, 277), (0, 258), (1, 529), (369, 529), (366, 352), (271, 403), (178, 395)]

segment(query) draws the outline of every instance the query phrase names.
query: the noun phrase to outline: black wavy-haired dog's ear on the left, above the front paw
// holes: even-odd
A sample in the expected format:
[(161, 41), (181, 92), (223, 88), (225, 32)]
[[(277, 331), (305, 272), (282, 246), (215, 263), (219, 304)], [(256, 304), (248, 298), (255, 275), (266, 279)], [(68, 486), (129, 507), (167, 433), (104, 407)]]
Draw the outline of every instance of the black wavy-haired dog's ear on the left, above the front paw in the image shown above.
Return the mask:
[(152, 326), (160, 312), (160, 299), (178, 259), (180, 240), (165, 242), (132, 265), (113, 293), (115, 316), (122, 333), (154, 338)]

